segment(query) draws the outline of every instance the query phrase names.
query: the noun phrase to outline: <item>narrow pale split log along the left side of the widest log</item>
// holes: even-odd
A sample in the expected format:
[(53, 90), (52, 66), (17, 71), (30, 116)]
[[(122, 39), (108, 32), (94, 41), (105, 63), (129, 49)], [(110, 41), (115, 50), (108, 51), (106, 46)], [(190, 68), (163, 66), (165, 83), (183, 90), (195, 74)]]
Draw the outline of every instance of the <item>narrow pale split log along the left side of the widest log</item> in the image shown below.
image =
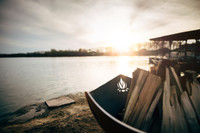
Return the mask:
[[(136, 80), (136, 83), (134, 86), (132, 86), (132, 91), (131, 91), (131, 95), (130, 95), (130, 98), (128, 100), (128, 104), (127, 104), (127, 107), (126, 107), (126, 110), (125, 110), (125, 113), (124, 113), (124, 119), (123, 119), (123, 122), (127, 123), (129, 117), (130, 117), (130, 114), (131, 114), (131, 111), (133, 110), (133, 108), (135, 107), (135, 104), (138, 100), (138, 97), (139, 97), (139, 94), (142, 90), (142, 87), (146, 81), (146, 78), (149, 74), (148, 71), (145, 71), (145, 70), (142, 70), (142, 69), (137, 69), (137, 71), (139, 74), (138, 74), (138, 77), (133, 77), (133, 80), (135, 79)], [(132, 82), (135, 82), (133, 81)]]

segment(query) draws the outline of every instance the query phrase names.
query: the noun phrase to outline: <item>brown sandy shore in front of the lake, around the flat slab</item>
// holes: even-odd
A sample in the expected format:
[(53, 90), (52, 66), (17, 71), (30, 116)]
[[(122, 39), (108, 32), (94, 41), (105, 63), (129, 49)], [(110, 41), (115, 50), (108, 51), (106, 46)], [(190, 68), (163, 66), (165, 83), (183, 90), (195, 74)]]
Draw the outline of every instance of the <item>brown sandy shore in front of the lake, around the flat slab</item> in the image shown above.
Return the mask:
[(29, 105), (0, 122), (0, 132), (102, 133), (84, 93), (70, 94), (76, 103), (49, 109), (45, 102)]

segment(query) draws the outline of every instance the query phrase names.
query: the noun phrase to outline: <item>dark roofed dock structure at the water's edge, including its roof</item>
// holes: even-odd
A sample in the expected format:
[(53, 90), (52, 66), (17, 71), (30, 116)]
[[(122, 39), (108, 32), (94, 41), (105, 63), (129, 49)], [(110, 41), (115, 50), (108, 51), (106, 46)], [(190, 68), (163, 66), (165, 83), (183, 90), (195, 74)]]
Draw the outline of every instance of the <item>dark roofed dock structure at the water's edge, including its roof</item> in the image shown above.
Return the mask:
[[(151, 38), (150, 42), (151, 45), (160, 48), (162, 56), (164, 56), (162, 50), (167, 48), (167, 59), (176, 60), (181, 71), (200, 72), (200, 29)], [(150, 58), (149, 61), (151, 59), (157, 62), (160, 60), (160, 58)]]

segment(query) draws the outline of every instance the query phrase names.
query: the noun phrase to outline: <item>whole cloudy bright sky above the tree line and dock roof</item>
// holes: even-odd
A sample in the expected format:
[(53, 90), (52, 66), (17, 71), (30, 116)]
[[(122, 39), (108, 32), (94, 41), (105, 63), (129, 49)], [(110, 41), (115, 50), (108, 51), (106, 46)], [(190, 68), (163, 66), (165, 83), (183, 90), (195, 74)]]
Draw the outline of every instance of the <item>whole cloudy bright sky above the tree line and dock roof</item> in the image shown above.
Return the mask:
[(0, 0), (0, 53), (119, 50), (200, 29), (200, 0)]

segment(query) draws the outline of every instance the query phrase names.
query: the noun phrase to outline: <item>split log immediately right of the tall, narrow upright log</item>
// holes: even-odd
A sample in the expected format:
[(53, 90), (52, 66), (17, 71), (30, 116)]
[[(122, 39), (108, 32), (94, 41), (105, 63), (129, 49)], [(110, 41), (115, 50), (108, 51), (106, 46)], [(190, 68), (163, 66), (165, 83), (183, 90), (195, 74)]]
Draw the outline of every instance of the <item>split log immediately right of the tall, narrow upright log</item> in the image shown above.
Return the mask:
[[(173, 100), (171, 100), (173, 99)], [(176, 86), (171, 87), (171, 107), (172, 107), (172, 124), (175, 133), (189, 132), (184, 112), (178, 101), (178, 96), (176, 92)]]

